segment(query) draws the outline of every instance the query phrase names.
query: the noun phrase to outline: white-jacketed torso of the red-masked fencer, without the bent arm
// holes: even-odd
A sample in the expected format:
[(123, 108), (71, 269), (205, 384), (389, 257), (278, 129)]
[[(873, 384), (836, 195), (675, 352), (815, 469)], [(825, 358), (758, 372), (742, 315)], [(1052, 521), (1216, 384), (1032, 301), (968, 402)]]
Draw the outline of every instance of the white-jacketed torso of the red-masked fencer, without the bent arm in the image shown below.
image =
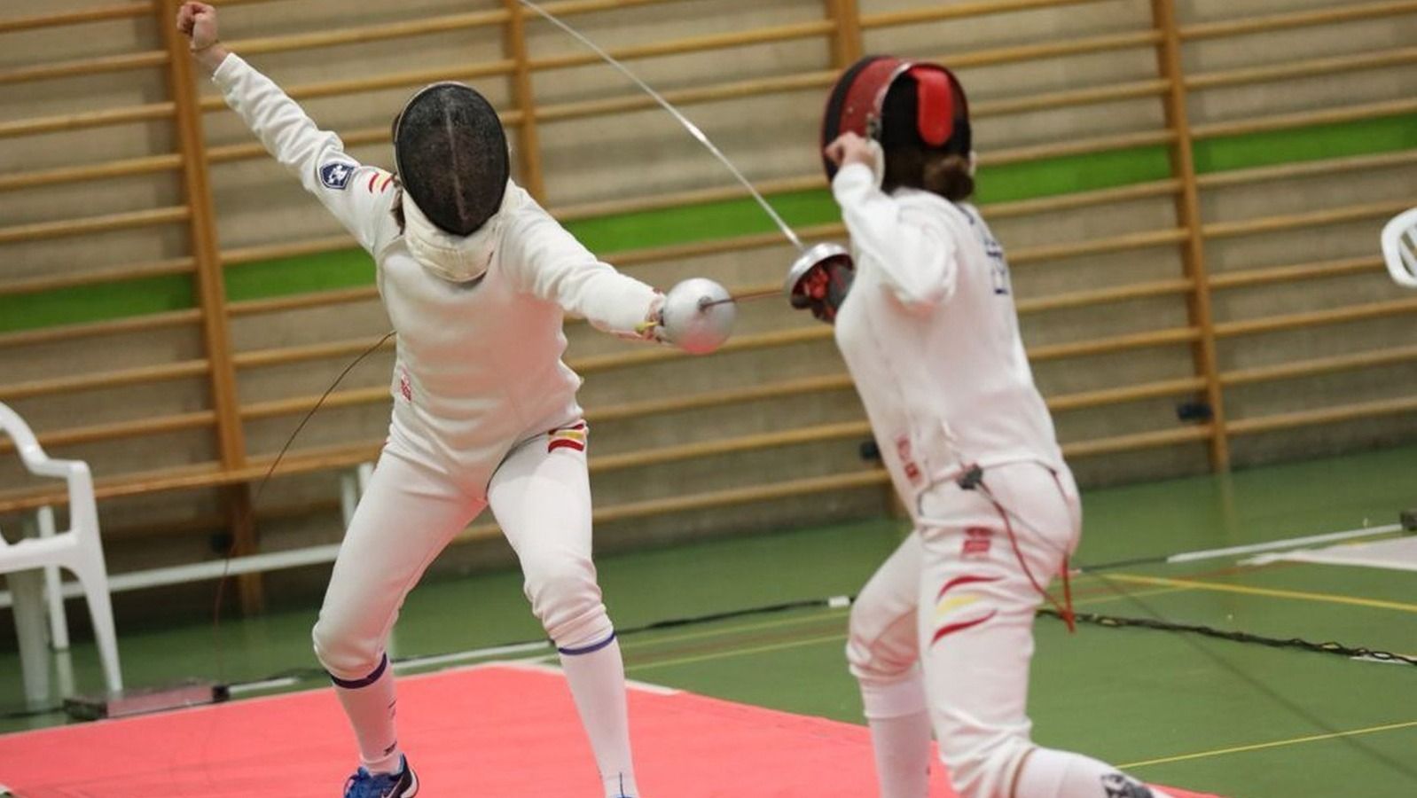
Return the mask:
[(904, 306), (859, 251), (837, 315), (837, 343), (897, 486), (910, 496), (971, 463), (1063, 468), (1019, 336), (1003, 248), (969, 204), (908, 189), (894, 198), (944, 218), (958, 261), (952, 293), (921, 310)]

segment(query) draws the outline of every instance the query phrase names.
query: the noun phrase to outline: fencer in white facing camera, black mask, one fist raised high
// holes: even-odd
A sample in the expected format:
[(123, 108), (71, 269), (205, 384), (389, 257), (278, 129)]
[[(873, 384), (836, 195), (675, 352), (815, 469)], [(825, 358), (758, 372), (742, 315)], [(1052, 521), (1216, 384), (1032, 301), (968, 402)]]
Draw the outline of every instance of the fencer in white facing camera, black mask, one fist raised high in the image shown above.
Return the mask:
[[(591, 561), (581, 378), (561, 360), (561, 327), (575, 313), (614, 335), (672, 343), (663, 296), (597, 259), (510, 180), (490, 218), (468, 235), (448, 232), (394, 174), (360, 164), (271, 79), (225, 52), (210, 6), (187, 3), (179, 27), (227, 103), (374, 257), (398, 333), (388, 441), (313, 632), (359, 740), (361, 767), (346, 795), (418, 789), (395, 736), (385, 644), (405, 594), (485, 507), (516, 550), (531, 609), (561, 652), (605, 795), (639, 795), (623, 665)], [(453, 102), (485, 105), (458, 85), (419, 96), (444, 89), (458, 95)], [(439, 108), (439, 125), (461, 123), (463, 111)]]

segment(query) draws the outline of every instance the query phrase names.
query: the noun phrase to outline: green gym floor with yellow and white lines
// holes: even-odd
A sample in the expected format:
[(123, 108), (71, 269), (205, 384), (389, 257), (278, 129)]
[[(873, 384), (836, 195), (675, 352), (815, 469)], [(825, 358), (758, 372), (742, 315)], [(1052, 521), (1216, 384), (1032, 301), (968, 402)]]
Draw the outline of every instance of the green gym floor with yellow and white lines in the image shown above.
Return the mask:
[[(1114, 563), (1390, 524), (1417, 506), (1414, 466), (1417, 448), (1399, 448), (1093, 490), (1077, 560)], [(599, 560), (601, 584), (622, 629), (853, 594), (903, 532), (900, 522), (883, 519), (619, 554)], [(1417, 573), (1292, 563), (1237, 568), (1238, 558), (1081, 577), (1077, 607), (1417, 653)], [(310, 607), (225, 621), (225, 680), (309, 672), (313, 618)], [(1145, 628), (1081, 625), (1068, 635), (1053, 618), (1040, 618), (1036, 629), (1030, 709), (1043, 744), (1229, 798), (1417, 795), (1411, 665)], [(822, 605), (629, 634), (623, 648), (632, 679), (859, 723), (845, 631), (846, 611)], [(404, 607), (394, 655), (538, 636), (519, 574), (492, 573), (418, 587)], [(207, 625), (125, 635), (120, 652), (130, 686), (218, 673)], [(81, 687), (99, 683), (91, 646), (77, 646), (72, 662)], [(0, 673), (7, 675), (0, 706), (20, 706), (16, 653), (0, 653)], [(0, 731), (61, 721), (57, 714), (9, 717)], [(3, 751), (0, 738), (0, 768)]]

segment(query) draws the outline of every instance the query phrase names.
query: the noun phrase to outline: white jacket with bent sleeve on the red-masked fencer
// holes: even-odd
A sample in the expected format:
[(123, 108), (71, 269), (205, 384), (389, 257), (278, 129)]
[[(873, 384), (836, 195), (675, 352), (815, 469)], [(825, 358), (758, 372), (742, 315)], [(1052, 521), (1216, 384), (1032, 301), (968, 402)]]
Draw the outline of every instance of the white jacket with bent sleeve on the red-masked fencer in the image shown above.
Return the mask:
[(836, 343), (911, 513), (969, 465), (1066, 468), (1003, 248), (979, 213), (928, 191), (887, 196), (863, 164), (837, 172), (832, 191), (856, 251)]

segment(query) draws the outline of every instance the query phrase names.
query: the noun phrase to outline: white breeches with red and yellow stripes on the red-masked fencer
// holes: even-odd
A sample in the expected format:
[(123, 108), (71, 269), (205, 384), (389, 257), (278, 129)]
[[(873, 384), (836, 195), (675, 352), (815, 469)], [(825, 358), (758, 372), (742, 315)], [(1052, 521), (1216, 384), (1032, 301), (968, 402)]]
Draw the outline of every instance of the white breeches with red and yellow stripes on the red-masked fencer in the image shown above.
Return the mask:
[(941, 758), (966, 798), (1009, 795), (1033, 750), (1029, 662), (1044, 600), (1034, 580), (1049, 584), (1081, 529), (1067, 471), (1016, 462), (986, 471), (983, 483), (1009, 510), (1016, 546), (983, 493), (934, 486), (915, 532), (862, 590), (846, 649), (867, 717), (928, 706)]

